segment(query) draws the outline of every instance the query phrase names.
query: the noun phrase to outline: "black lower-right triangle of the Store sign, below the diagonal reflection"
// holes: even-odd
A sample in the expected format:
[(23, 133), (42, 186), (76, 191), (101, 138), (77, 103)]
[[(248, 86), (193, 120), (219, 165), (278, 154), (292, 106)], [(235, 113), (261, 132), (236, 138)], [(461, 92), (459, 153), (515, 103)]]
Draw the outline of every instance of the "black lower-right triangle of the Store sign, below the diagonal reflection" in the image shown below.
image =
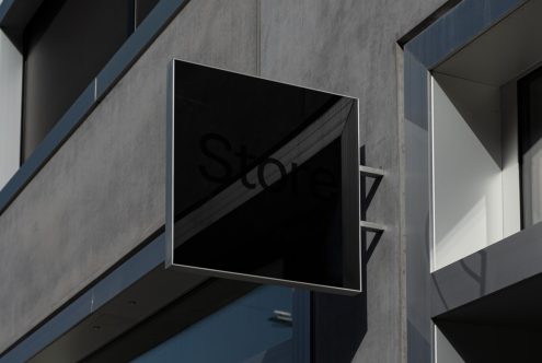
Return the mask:
[[(174, 262), (341, 285), (341, 143), (182, 244)], [(334, 268), (335, 267), (335, 268)]]

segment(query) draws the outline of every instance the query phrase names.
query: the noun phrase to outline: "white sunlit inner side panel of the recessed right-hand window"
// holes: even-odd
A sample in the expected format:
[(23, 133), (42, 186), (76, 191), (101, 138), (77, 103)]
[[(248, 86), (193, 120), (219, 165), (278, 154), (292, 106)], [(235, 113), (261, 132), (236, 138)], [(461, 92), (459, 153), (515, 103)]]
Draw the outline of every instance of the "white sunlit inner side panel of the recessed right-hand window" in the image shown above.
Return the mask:
[[(452, 102), (441, 84), (460, 97)], [(435, 269), (503, 238), (498, 89), (450, 78), (441, 84), (433, 82)], [(461, 99), (468, 94), (477, 94), (480, 109)]]

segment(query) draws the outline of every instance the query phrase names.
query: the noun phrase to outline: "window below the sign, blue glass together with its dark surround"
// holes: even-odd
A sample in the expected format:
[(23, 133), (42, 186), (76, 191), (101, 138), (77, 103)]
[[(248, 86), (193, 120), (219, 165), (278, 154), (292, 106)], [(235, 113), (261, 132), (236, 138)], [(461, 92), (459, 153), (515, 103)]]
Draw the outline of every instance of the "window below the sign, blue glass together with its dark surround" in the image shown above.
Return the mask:
[(293, 362), (309, 353), (309, 318), (305, 292), (212, 279), (83, 362)]

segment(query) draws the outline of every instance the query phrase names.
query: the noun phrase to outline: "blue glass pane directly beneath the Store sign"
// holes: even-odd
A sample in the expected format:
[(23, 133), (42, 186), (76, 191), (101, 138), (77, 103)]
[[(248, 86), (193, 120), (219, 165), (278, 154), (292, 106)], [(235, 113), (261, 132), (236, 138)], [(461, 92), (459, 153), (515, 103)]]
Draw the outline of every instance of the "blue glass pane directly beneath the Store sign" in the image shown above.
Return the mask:
[(258, 288), (134, 362), (292, 362), (292, 326), (274, 312), (292, 312), (292, 289)]

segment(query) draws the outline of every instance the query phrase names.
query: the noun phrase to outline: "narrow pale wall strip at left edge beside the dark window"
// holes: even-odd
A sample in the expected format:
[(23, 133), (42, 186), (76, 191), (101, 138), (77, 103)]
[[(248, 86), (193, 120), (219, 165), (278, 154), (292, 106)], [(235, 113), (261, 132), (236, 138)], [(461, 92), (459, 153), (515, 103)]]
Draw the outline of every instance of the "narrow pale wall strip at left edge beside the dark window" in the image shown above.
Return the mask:
[(22, 79), (23, 57), (0, 31), (0, 189), (19, 168)]

